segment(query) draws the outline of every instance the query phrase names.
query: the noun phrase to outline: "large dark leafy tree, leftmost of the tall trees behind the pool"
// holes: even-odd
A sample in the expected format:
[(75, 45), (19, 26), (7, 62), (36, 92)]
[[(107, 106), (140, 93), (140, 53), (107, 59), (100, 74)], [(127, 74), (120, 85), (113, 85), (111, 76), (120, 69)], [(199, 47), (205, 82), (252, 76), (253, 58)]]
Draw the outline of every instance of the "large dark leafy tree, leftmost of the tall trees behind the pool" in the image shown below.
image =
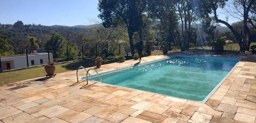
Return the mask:
[(99, 0), (98, 17), (108, 28), (124, 23), (128, 30), (131, 54), (134, 55), (133, 34), (140, 31), (147, 0)]

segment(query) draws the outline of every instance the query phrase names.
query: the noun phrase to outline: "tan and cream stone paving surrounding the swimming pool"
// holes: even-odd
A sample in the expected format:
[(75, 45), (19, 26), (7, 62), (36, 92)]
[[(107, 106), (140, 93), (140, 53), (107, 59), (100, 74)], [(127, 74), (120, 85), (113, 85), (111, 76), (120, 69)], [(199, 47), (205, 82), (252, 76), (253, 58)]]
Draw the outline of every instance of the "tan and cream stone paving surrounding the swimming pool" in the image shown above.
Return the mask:
[[(224, 56), (243, 60), (205, 104), (104, 83), (84, 87), (83, 80), (71, 86), (76, 78), (70, 71), (0, 86), (0, 123), (256, 123), (256, 56)], [(141, 63), (166, 57), (149, 56)], [(98, 71), (136, 63), (111, 63)]]

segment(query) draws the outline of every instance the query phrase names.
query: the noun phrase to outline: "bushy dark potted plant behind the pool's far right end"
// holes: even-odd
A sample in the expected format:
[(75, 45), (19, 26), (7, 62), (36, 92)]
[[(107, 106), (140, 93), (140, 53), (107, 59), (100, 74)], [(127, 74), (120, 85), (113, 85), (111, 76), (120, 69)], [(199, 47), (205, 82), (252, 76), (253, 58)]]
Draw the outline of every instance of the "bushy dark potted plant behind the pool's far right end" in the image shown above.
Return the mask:
[(225, 37), (221, 37), (220, 39), (215, 39), (213, 41), (213, 48), (214, 48), (214, 52), (216, 54), (222, 54), (222, 52), (224, 51), (224, 47), (226, 42), (225, 42)]

